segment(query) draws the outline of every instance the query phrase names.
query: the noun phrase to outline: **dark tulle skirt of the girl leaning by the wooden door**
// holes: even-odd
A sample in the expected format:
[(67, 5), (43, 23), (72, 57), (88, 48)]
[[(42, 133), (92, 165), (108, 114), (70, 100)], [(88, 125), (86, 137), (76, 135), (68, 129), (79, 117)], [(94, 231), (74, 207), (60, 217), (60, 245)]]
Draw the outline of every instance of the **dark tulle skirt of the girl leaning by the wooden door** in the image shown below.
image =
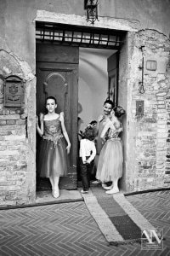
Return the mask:
[(65, 139), (59, 138), (58, 143), (42, 139), (38, 154), (37, 172), (40, 177), (60, 177), (67, 174), (67, 154)]

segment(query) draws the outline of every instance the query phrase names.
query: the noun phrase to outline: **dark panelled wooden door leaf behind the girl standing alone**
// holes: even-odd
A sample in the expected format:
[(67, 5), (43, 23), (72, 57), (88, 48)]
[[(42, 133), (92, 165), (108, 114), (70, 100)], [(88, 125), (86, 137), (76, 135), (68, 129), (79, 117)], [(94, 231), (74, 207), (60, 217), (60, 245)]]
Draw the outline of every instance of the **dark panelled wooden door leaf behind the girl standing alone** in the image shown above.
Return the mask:
[(61, 189), (77, 188), (78, 61), (77, 47), (37, 44), (37, 113), (44, 113), (46, 98), (54, 96), (56, 112), (65, 113), (65, 127), (71, 140), (68, 176), (60, 178)]

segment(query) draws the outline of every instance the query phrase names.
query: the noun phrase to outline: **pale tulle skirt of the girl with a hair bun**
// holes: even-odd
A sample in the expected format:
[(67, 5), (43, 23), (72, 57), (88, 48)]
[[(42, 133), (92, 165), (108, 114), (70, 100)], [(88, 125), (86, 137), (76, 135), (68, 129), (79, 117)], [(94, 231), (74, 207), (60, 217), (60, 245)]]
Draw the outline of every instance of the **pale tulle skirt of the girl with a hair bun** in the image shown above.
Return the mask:
[(96, 178), (102, 183), (122, 177), (122, 141), (109, 139), (99, 154)]

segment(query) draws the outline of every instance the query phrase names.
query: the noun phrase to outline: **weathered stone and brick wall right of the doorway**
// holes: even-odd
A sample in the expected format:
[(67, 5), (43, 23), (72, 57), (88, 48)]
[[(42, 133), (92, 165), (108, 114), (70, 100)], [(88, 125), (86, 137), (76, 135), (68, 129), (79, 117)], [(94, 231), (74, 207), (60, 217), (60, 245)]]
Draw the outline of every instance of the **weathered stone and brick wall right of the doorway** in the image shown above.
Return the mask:
[[(128, 184), (130, 190), (170, 186), (170, 76), (167, 72), (169, 51), (168, 38), (159, 32), (148, 29), (139, 31), (134, 36), (129, 74), (131, 89), (128, 93), (131, 94), (129, 132), (130, 137), (135, 140), (133, 158), (136, 165)], [(142, 71), (139, 67), (142, 65), (143, 56), (144, 94), (141, 94), (139, 82), (142, 79)], [(156, 61), (156, 70), (148, 70), (147, 61)], [(136, 111), (138, 101), (144, 101), (144, 115), (139, 118)], [(130, 163), (128, 166), (130, 167)]]

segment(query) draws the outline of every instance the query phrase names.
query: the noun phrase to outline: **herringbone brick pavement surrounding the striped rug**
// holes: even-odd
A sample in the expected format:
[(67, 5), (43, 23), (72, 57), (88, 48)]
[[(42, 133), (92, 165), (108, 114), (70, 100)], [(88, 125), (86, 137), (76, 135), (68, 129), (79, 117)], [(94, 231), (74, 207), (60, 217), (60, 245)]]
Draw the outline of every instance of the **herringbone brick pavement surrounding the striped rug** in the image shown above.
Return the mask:
[[(1, 210), (0, 256), (170, 255), (167, 247), (170, 233), (167, 227), (169, 195), (168, 191), (127, 196), (150, 223), (164, 229), (166, 245), (163, 251), (143, 251), (139, 243), (109, 246), (81, 201)], [(153, 206), (150, 206), (151, 203)]]

